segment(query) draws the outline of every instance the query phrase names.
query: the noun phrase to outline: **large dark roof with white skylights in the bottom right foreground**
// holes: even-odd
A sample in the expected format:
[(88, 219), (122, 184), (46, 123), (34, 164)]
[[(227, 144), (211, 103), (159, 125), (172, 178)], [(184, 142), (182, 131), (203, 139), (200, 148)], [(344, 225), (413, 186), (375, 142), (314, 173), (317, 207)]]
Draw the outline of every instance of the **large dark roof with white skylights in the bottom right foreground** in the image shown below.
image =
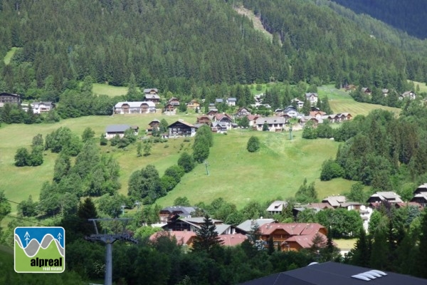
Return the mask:
[(420, 279), (393, 272), (385, 272), (385, 276), (377, 277), (369, 281), (352, 277), (371, 270), (372, 269), (369, 268), (348, 264), (325, 262), (273, 274), (242, 283), (241, 285), (427, 285), (427, 279)]

